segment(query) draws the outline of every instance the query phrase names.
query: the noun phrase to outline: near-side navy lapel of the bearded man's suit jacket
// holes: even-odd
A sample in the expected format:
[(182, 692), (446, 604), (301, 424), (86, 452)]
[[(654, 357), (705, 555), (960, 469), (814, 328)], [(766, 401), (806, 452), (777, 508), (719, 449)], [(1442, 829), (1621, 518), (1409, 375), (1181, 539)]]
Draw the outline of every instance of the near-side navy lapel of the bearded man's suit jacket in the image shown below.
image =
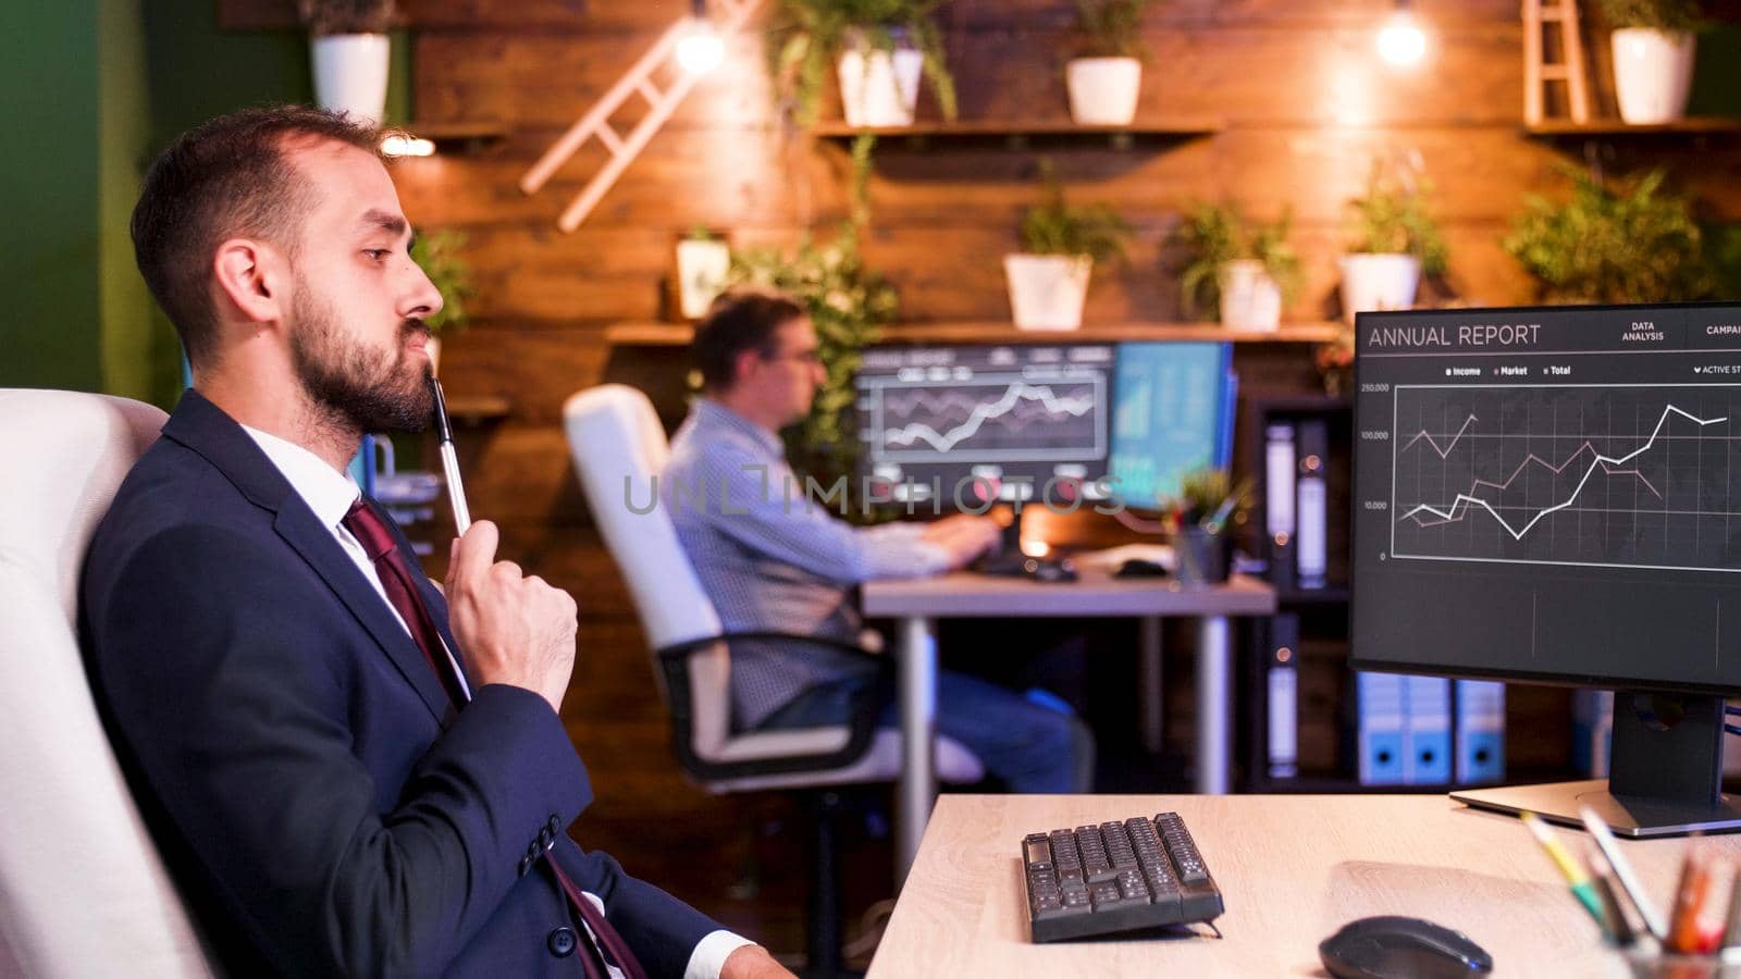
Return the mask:
[[(273, 530), (279, 537), (333, 589), (333, 594), (350, 610), (357, 624), (381, 646), (406, 683), (418, 692), (430, 714), (446, 725), (453, 704), (447, 702), (447, 692), (430, 671), (428, 660), (423, 658), (423, 650), (399, 624), (393, 610), (381, 601), (374, 585), (362, 577), (362, 570), (333, 540), (333, 531), (315, 519), (308, 503), (296, 495), (291, 483), (247, 437), (247, 432), (190, 388), (181, 395), (181, 404), (176, 406), (169, 423), (164, 425), (164, 435), (197, 451), (223, 472), (249, 502), (275, 514)], [(442, 606), (437, 622), (446, 636), (446, 606)]]

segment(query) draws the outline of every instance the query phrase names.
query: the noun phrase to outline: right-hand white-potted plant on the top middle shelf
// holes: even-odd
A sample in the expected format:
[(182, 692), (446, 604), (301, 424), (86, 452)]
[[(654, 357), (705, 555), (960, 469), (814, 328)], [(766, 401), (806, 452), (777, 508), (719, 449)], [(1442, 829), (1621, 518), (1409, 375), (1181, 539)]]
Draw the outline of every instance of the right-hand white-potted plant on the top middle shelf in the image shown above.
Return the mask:
[(1130, 125), (1142, 91), (1142, 10), (1151, 0), (1076, 0), (1081, 54), (1064, 80), (1079, 125)]

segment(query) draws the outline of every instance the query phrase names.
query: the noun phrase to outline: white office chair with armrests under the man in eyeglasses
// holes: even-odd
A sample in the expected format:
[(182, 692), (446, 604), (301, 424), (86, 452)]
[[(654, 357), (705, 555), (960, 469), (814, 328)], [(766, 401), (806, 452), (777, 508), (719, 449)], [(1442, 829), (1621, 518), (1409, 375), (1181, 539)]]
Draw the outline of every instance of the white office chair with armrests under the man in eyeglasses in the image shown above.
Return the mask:
[[(644, 394), (625, 385), (583, 390), (568, 399), (562, 418), (592, 517), (646, 631), (684, 775), (710, 793), (891, 782), (900, 772), (900, 735), (876, 726), (881, 704), (872, 699), (860, 706), (851, 725), (731, 730), (733, 639), (790, 643), (792, 655), (804, 655), (806, 645), (853, 646), (813, 636), (721, 629), (670, 516), (663, 507), (637, 512), (648, 510), (653, 474), (669, 456), (665, 429)], [(938, 737), (937, 773), (947, 782), (977, 782), (984, 766), (959, 742)], [(827, 972), (839, 962), (839, 913), (829, 814), (820, 815), (806, 944), (811, 967)]]

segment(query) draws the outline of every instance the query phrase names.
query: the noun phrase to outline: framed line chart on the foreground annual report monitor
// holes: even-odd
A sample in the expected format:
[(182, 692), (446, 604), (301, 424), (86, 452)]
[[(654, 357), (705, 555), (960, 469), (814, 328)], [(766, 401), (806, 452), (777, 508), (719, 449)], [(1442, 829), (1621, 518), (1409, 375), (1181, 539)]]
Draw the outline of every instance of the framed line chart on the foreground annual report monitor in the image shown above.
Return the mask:
[(1396, 385), (1391, 556), (1741, 570), (1741, 385)]

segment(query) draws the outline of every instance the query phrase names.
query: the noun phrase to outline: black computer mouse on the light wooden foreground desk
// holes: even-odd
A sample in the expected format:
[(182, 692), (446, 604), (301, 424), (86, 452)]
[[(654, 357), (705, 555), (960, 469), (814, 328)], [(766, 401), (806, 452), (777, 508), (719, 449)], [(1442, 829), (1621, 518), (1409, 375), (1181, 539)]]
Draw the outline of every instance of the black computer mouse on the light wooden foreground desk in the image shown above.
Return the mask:
[(1342, 925), (1318, 942), (1318, 958), (1337, 979), (1466, 979), (1494, 970), (1494, 956), (1469, 935), (1400, 915)]

